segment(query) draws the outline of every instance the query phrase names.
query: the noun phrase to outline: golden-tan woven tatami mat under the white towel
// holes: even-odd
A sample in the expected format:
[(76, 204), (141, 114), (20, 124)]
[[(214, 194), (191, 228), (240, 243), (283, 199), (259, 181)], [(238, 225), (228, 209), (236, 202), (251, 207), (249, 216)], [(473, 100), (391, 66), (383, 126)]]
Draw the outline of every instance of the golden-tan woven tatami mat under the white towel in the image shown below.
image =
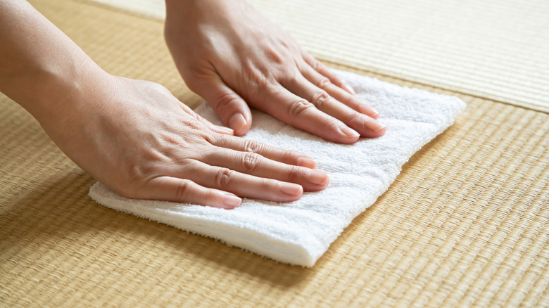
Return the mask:
[[(108, 72), (200, 101), (158, 21), (32, 4)], [(89, 175), (0, 96), (0, 306), (548, 307), (549, 115), (457, 95), (468, 107), (456, 124), (312, 269), (96, 205)]]

